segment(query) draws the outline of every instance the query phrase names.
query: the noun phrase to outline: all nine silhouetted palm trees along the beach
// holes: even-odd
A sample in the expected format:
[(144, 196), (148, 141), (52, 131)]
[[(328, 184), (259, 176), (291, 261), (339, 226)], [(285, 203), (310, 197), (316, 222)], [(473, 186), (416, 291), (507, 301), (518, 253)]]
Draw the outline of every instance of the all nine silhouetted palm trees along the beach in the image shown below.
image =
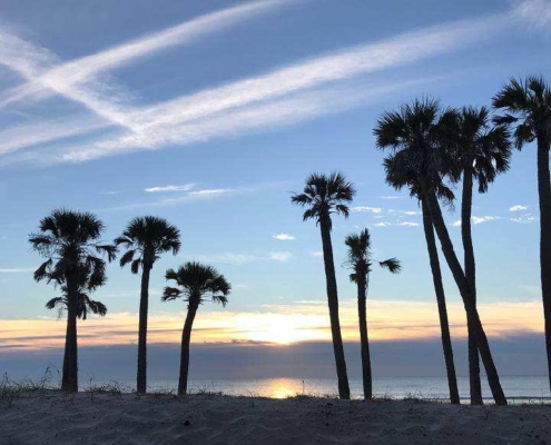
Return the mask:
[[(511, 80), (493, 98), (493, 109), (486, 107), (444, 108), (437, 100), (419, 99), (397, 111), (385, 112), (376, 122), (376, 146), (386, 150), (383, 166), (386, 181), (395, 189), (407, 189), (423, 215), (423, 228), (436, 296), (444, 362), (451, 403), (460, 403), (450, 327), (442, 283), (436, 238), (461, 294), (468, 319), (470, 396), (472, 404), (482, 404), (479, 357), (496, 404), (505, 405), (490, 345), (476, 309), (476, 268), (471, 217), (473, 188), (479, 192), (499, 174), (510, 167), (512, 147), (521, 149), (537, 141), (538, 185), (541, 230), (541, 285), (545, 319), (545, 344), (551, 385), (551, 181), (549, 151), (551, 147), (551, 87), (542, 78)], [(502, 113), (500, 113), (502, 112)], [(457, 257), (442, 205), (455, 200), (452, 185), (462, 182), (461, 235), (463, 261)], [(332, 244), (332, 217), (348, 217), (350, 204), (356, 190), (346, 178), (334, 172), (313, 174), (303, 192), (292, 196), (292, 202), (305, 207), (303, 219), (314, 219), (319, 226), (326, 277), (331, 332), (341, 398), (350, 398), (343, 339), (338, 318), (338, 294)], [(132, 219), (112, 244), (101, 244), (105, 227), (92, 214), (55, 210), (40, 222), (40, 230), (30, 236), (35, 250), (46, 261), (35, 271), (37, 281), (52, 283), (61, 296), (47, 303), (48, 308), (67, 309), (67, 336), (63, 357), (62, 389), (78, 390), (77, 318), (89, 312), (105, 315), (107, 308), (90, 298), (90, 294), (107, 280), (106, 264), (116, 258), (119, 248), (126, 251), (120, 266), (130, 265), (132, 274), (141, 271), (137, 390), (147, 390), (147, 317), (149, 277), (156, 260), (166, 253), (180, 249), (179, 230), (165, 219)], [(436, 236), (435, 236), (436, 234)], [(366, 294), (373, 264), (395, 274), (401, 270), (396, 258), (374, 260), (367, 229), (345, 239), (350, 279), (357, 285), (364, 397), (372, 397), (372, 373), (367, 335)], [(104, 259), (107, 257), (107, 260)], [(181, 359), (178, 393), (186, 394), (191, 327), (201, 303), (207, 298), (226, 305), (230, 285), (218, 271), (199, 263), (187, 263), (169, 269), (165, 278), (177, 287), (166, 287), (164, 301), (183, 298), (188, 305), (181, 336)]]

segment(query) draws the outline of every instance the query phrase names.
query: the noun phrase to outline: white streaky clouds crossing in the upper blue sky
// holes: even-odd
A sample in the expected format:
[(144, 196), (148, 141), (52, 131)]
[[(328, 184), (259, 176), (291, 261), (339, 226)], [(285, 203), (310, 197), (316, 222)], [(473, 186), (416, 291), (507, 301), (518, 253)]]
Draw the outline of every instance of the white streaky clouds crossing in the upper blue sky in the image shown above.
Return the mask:
[[(200, 21), (198, 26), (195, 23), (194, 32), (201, 34), (217, 31), (226, 23), (234, 23), (236, 17), (248, 19), (256, 14), (255, 8), (264, 11), (265, 4), (269, 4), (266, 7), (269, 9), (276, 3), (281, 2), (274, 0), (250, 3), (256, 7), (249, 7), (247, 3), (242, 9), (236, 7), (234, 12), (219, 11), (219, 16), (214, 20), (207, 20), (209, 24)], [(328, 112), (340, 112), (366, 102), (377, 93), (364, 91), (360, 86), (343, 91), (340, 82), (454, 51), (503, 31), (510, 24), (511, 11), (508, 10), (496, 16), (424, 28), (146, 107), (132, 106), (132, 98), (126, 91), (97, 81), (95, 75), (128, 65), (167, 46), (183, 44), (187, 41), (187, 37), (183, 36), (188, 36), (188, 31), (181, 31), (180, 28), (160, 31), (66, 63), (59, 63), (55, 55), (41, 47), (2, 32), (0, 48), (3, 48), (8, 57), (0, 58), (0, 62), (29, 79), (29, 85), (23, 88), (27, 91), (19, 91), (14, 96), (20, 99), (32, 96), (32, 91), (55, 91), (85, 105), (98, 118), (105, 120), (106, 126), (114, 126), (120, 135), (81, 146), (58, 146), (50, 152), (27, 152), (9, 159), (7, 164), (86, 161), (173, 144), (185, 146), (211, 137), (233, 136), (259, 128), (291, 125)], [(12, 44), (14, 42), (16, 46)], [(416, 82), (419, 85), (420, 81)], [(404, 87), (405, 85), (382, 86), (380, 93), (387, 95)], [(40, 93), (43, 95), (43, 91)], [(304, 95), (288, 99), (292, 93)], [(4, 100), (13, 101), (14, 96)], [(332, 107), (327, 107), (327, 103)], [(335, 110), (332, 110), (334, 106)], [(45, 138), (51, 140), (53, 137), (48, 135)]]

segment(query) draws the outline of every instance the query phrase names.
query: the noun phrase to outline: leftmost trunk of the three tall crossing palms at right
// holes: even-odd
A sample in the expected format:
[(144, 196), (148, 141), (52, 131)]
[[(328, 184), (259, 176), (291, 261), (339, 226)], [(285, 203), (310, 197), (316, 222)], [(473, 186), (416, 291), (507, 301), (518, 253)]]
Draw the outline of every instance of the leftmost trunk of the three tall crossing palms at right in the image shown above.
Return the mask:
[(436, 248), (436, 239), (434, 238), (434, 227), (432, 224), (432, 218), (424, 200), (422, 200), (422, 210), (426, 248), (429, 250), (432, 279), (434, 283), (434, 293), (436, 294), (436, 303), (439, 305), (440, 332), (442, 336), (442, 347), (444, 349), (447, 386), (450, 388), (450, 402), (452, 404), (459, 404), (460, 395), (457, 389), (457, 377), (455, 375), (455, 365), (453, 363), (452, 339), (450, 336), (450, 323), (447, 322), (447, 308), (445, 305), (445, 294), (444, 285), (442, 283), (442, 270), (440, 268), (439, 250)]

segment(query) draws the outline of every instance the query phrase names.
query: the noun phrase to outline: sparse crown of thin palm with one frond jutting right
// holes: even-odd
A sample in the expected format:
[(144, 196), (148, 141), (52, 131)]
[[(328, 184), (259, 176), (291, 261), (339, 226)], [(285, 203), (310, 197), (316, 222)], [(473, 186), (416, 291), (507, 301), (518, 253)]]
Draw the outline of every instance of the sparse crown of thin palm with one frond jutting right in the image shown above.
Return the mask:
[[(348, 235), (344, 244), (348, 247), (346, 265), (352, 269), (351, 281), (357, 283), (361, 276), (365, 277), (372, 271), (371, 235), (368, 229), (363, 229), (360, 234)], [(382, 268), (388, 269), (391, 274), (397, 274), (402, 265), (396, 258), (388, 258), (384, 261), (376, 261)]]

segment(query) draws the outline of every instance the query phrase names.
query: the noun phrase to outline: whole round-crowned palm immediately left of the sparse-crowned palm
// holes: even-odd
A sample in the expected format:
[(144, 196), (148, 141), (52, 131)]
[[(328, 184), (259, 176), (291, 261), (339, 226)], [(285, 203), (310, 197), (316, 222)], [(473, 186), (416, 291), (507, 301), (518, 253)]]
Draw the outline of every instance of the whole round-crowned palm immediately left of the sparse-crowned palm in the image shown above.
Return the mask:
[(346, 373), (346, 360), (344, 358), (341, 322), (338, 320), (338, 295), (333, 245), (331, 243), (331, 230), (333, 228), (331, 215), (337, 214), (347, 218), (350, 214), (347, 205), (352, 202), (355, 194), (356, 190), (352, 182), (348, 182), (338, 172), (331, 175), (312, 174), (306, 179), (303, 192), (293, 195), (291, 198), (293, 204), (308, 207), (303, 215), (303, 220), (315, 219), (322, 233), (331, 333), (333, 336), (333, 349), (338, 378), (338, 396), (346, 399), (351, 397), (351, 390)]

